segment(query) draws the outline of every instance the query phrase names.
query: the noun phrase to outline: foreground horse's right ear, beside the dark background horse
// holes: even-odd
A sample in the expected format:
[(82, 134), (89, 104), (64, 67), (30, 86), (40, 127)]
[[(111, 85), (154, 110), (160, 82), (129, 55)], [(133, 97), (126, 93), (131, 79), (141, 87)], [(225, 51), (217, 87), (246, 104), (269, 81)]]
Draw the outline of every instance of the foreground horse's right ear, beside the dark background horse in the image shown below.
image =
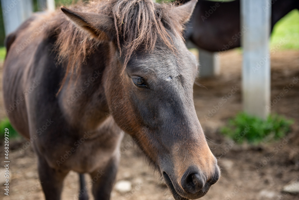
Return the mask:
[(179, 16), (181, 19), (181, 24), (186, 24), (192, 16), (196, 3), (197, 0), (191, 0), (183, 5), (171, 9), (170, 14)]

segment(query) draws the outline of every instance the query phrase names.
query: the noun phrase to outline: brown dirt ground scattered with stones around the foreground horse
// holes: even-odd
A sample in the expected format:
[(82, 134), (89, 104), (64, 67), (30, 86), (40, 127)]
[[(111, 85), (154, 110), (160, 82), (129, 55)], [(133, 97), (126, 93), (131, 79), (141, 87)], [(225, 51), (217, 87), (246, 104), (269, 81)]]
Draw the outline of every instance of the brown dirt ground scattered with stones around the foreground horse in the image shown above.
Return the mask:
[[(223, 54), (220, 59), (221, 74), (216, 78), (198, 79), (197, 82), (205, 87), (194, 86), (194, 102), (199, 121), (222, 169), (221, 178), (202, 199), (299, 199), (298, 195), (281, 192), (283, 186), (290, 181), (299, 181), (299, 83), (288, 93), (283, 90), (294, 77), (299, 76), (299, 51), (277, 51), (271, 55), (271, 101), (275, 99), (274, 96), (284, 93), (284, 97), (272, 107), (272, 112), (294, 119), (292, 132), (275, 143), (258, 146), (232, 145), (231, 140), (219, 134), (219, 127), (242, 110), (242, 55), (233, 50)], [(228, 95), (232, 87), (237, 87), (237, 92), (224, 102), (222, 97)], [(209, 111), (219, 102), (222, 102), (223, 106), (210, 119), (205, 119), (205, 115), (208, 116)], [(2, 101), (0, 106), (0, 117), (3, 117)], [(125, 137), (121, 146), (122, 156), (117, 181), (130, 181), (132, 190), (120, 193), (114, 189), (112, 200), (173, 199), (158, 173), (153, 172), (142, 153), (136, 146), (131, 145), (130, 140)], [(10, 196), (4, 196), (4, 186), (1, 185), (0, 199), (44, 199), (37, 175), (35, 154), (31, 148), (24, 152), (18, 150), (25, 142), (23, 139), (10, 141)], [(2, 142), (1, 155), (4, 154), (3, 149)], [(273, 156), (268, 159), (271, 153)], [(3, 156), (0, 156), (1, 163), (3, 159)], [(90, 180), (87, 182), (90, 188)], [(75, 172), (69, 173), (64, 182), (62, 199), (77, 199), (78, 188), (78, 175)]]

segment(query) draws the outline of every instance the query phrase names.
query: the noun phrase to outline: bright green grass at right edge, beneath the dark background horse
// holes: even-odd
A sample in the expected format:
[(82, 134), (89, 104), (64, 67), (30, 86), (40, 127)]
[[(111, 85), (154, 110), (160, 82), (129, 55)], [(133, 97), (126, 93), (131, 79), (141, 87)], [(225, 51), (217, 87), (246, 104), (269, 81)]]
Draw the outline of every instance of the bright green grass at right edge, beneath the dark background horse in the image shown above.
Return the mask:
[[(273, 28), (271, 48), (299, 49), (299, 11), (292, 10), (280, 19)], [(281, 45), (282, 44), (282, 45)]]

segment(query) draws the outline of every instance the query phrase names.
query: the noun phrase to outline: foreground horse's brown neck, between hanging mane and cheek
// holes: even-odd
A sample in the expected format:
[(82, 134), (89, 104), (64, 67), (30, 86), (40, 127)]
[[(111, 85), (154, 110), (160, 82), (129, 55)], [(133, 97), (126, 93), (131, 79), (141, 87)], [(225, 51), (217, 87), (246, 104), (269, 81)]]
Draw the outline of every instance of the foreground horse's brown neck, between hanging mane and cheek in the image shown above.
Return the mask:
[(63, 113), (78, 129), (92, 131), (107, 119), (105, 113), (109, 113), (109, 107), (104, 82), (106, 71), (111, 68), (111, 54), (109, 45), (100, 45), (88, 56), (80, 73), (68, 78), (60, 92)]

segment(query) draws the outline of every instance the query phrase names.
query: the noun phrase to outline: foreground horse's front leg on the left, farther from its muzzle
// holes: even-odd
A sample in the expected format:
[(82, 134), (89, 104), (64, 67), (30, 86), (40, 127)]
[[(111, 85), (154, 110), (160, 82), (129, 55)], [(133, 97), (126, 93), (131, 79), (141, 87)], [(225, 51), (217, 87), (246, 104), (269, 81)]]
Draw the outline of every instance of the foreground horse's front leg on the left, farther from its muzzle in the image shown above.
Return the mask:
[(63, 180), (68, 171), (53, 169), (43, 157), (39, 157), (38, 172), (46, 200), (60, 200)]

